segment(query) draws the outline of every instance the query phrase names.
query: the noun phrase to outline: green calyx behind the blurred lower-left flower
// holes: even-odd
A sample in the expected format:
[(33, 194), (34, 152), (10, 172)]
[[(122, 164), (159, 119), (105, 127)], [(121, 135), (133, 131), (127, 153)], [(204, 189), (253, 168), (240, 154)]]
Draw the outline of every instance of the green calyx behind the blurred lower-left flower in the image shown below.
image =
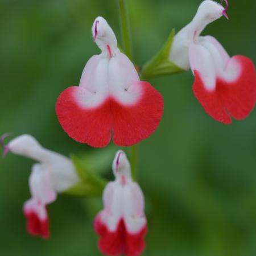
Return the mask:
[(75, 196), (101, 196), (107, 181), (93, 172), (89, 165), (85, 167), (75, 155), (72, 155), (71, 159), (81, 181), (64, 193)]

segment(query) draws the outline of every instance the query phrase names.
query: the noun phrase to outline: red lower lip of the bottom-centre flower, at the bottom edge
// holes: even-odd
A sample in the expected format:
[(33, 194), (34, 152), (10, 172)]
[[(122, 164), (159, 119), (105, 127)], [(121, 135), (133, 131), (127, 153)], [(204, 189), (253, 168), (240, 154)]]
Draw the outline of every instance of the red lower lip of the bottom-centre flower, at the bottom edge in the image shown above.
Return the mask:
[(100, 236), (98, 247), (103, 254), (139, 256), (144, 250), (144, 236), (147, 233), (146, 225), (137, 233), (131, 234), (126, 228), (125, 221), (121, 219), (117, 229), (112, 232), (102, 223), (100, 215), (98, 215), (94, 221), (94, 230)]

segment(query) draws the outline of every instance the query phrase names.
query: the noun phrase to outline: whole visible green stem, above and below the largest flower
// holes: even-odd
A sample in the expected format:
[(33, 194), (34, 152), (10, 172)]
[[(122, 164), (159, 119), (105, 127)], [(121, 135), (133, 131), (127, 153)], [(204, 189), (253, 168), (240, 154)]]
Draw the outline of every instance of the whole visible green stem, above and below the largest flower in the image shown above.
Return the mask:
[[(127, 9), (127, 1), (126, 0), (118, 0), (119, 5), (119, 15), (121, 21), (121, 32), (122, 32), (122, 40), (123, 40), (123, 51), (129, 57), (131, 61), (133, 61), (132, 56), (132, 46), (131, 46), (131, 33), (130, 33), (130, 20)], [(137, 176), (137, 145), (131, 146), (131, 174), (133, 179), (136, 180)]]

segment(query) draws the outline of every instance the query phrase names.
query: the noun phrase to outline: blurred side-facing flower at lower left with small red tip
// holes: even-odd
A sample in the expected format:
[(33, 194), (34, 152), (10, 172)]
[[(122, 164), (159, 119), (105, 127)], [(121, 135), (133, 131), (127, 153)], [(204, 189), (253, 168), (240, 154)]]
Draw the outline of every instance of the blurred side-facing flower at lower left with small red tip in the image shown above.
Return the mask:
[[(2, 144), (3, 139), (2, 137)], [(27, 218), (27, 231), (33, 236), (49, 238), (47, 205), (56, 200), (57, 193), (73, 187), (79, 177), (71, 160), (56, 152), (43, 148), (34, 137), (20, 135), (4, 146), (4, 154), (26, 156), (39, 163), (32, 166), (28, 180), (31, 199), (23, 205)]]

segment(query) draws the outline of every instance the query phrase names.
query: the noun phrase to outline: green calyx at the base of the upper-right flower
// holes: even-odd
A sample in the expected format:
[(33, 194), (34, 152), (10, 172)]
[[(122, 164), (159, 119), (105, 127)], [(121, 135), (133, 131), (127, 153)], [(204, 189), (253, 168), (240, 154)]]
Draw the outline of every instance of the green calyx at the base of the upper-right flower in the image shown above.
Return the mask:
[(143, 65), (141, 79), (154, 76), (170, 75), (172, 73), (184, 71), (183, 69), (177, 67), (177, 65), (172, 63), (170, 60), (168, 60), (172, 42), (174, 41), (174, 36), (175, 30), (173, 29), (163, 48), (160, 49), (160, 51), (154, 57), (152, 57), (151, 60)]

